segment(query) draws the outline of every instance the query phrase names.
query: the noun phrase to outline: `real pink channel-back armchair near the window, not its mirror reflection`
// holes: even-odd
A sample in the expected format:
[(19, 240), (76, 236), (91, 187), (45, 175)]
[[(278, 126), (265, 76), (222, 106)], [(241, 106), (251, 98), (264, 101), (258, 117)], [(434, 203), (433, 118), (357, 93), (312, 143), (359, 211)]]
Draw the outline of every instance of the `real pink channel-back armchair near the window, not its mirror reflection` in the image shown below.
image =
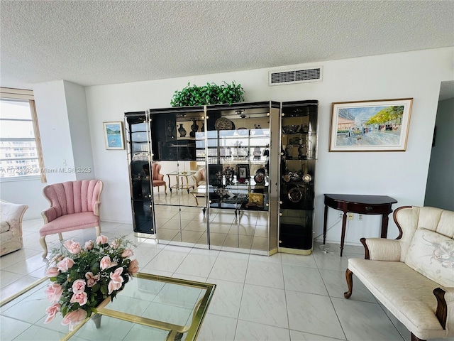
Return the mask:
[(43, 210), (44, 226), (40, 228), (40, 244), (44, 249), (43, 258), (48, 254), (45, 237), (75, 229), (94, 227), (96, 236), (101, 234), (99, 224), (99, 201), (103, 183), (100, 180), (68, 181), (55, 183), (43, 188), (50, 207)]

